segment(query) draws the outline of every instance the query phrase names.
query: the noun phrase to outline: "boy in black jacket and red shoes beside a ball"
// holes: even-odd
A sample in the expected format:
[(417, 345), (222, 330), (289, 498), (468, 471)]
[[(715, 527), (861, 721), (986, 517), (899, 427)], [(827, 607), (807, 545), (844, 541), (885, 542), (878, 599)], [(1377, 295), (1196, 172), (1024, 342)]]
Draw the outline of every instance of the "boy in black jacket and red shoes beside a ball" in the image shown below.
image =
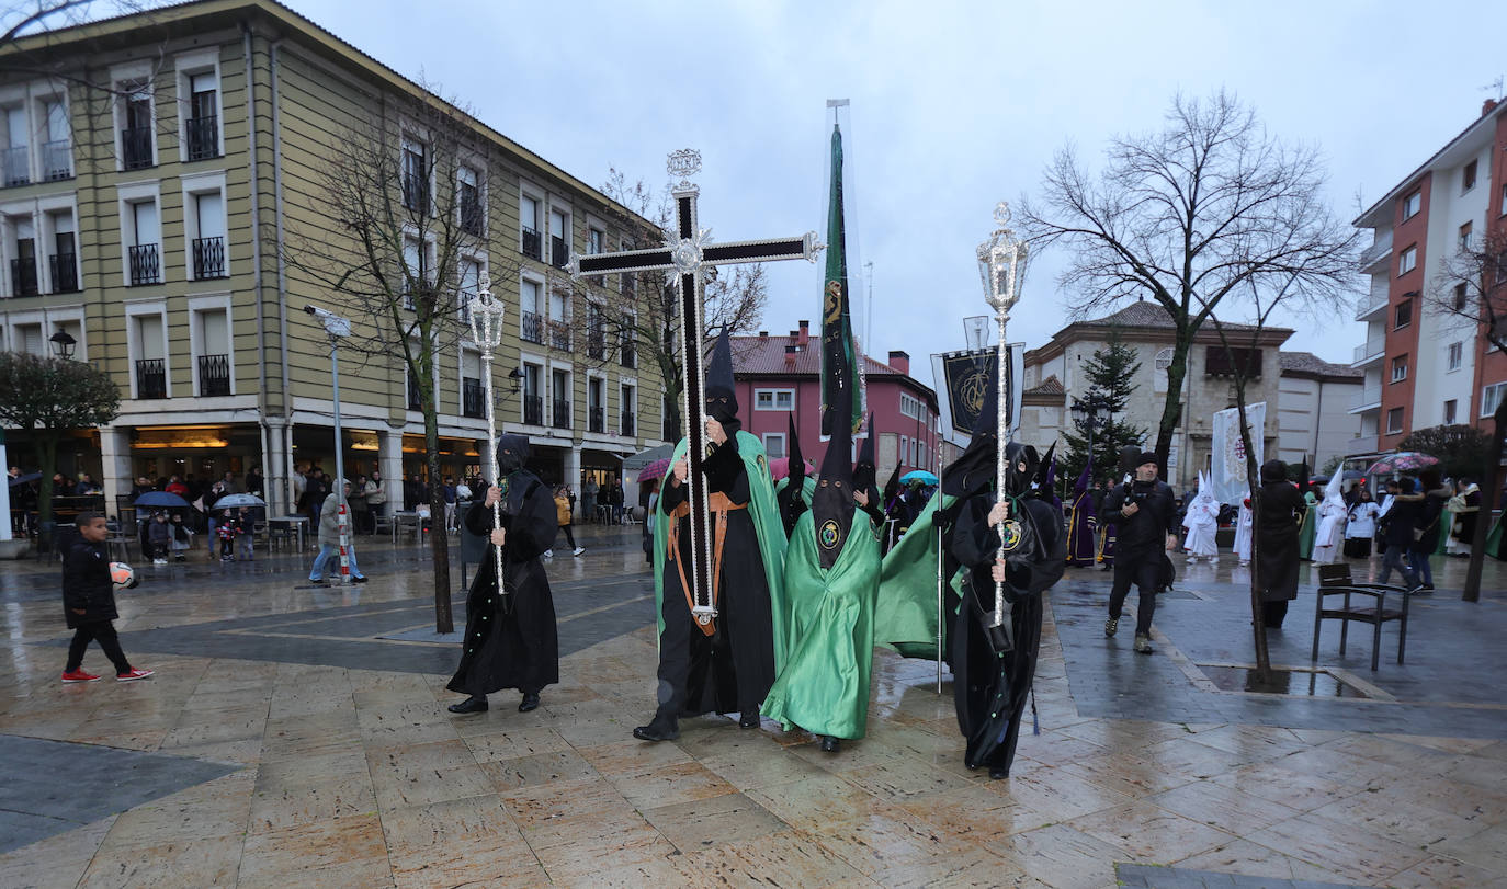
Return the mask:
[[(131, 668), (121, 651), (121, 640), (110, 622), (119, 615), (115, 610), (115, 582), (110, 579), (110, 559), (104, 551), (109, 535), (104, 515), (98, 512), (78, 514), (78, 538), (63, 556), (63, 618), (74, 631), (68, 645), (68, 666), (63, 683), (93, 683), (99, 677), (83, 671), (84, 651), (93, 640), (99, 642), (105, 657), (115, 664), (118, 683), (145, 680), (152, 671)], [(133, 582), (134, 586), (134, 582)]]

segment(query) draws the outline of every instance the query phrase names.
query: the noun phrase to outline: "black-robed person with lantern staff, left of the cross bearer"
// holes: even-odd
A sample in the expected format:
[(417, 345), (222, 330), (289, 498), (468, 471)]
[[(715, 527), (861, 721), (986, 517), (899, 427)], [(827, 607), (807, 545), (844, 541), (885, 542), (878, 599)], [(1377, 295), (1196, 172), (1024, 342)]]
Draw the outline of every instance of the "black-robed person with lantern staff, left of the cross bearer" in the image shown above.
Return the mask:
[[(544, 686), (559, 683), (559, 640), (555, 627), (555, 598), (540, 556), (555, 542), (555, 499), (532, 472), (529, 438), (497, 437), (499, 481), (466, 512), (466, 529), (490, 541), (466, 598), (466, 637), (461, 664), (451, 680), (451, 692), (470, 695), (451, 704), (451, 713), (482, 713), (487, 695), (502, 689), (523, 693), (518, 710), (540, 705)], [(493, 523), (493, 503), (500, 503), (500, 527)], [(497, 558), (502, 548), (502, 585), (497, 585)]]

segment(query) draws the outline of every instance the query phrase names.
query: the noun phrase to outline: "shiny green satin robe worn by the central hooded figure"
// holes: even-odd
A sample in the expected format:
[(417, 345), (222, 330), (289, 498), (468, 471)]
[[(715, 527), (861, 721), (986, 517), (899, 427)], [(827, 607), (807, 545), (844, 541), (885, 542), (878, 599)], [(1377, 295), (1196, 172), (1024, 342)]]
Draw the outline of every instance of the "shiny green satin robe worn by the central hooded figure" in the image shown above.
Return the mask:
[(874, 664), (874, 600), (879, 598), (879, 536), (854, 509), (847, 542), (830, 571), (821, 570), (815, 520), (796, 520), (785, 551), (788, 658), (760, 713), (790, 731), (862, 738), (868, 725), (868, 680)]

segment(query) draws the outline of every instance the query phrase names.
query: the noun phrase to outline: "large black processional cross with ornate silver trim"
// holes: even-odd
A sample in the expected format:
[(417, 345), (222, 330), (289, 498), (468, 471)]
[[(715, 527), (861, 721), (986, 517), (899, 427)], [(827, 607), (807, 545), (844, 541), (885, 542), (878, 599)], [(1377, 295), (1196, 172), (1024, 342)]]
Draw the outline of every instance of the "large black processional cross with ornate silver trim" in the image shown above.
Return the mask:
[(701, 188), (690, 176), (701, 172), (701, 152), (681, 149), (669, 155), (669, 175), (680, 176), (671, 190), (675, 199), (675, 231), (665, 232), (665, 246), (619, 253), (571, 255), (571, 277), (600, 274), (634, 274), (640, 271), (671, 271), (675, 274), (677, 307), (680, 310), (680, 357), (686, 383), (681, 387), (681, 432), (686, 435), (689, 472), (686, 484), (690, 505), (690, 583), (692, 616), (704, 633), (711, 633), (717, 616), (711, 589), (711, 508), (707, 479), (701, 472), (707, 458), (705, 401), (707, 383), (704, 342), (705, 270), (737, 262), (773, 262), (776, 259), (808, 259), (815, 262), (823, 244), (815, 232), (794, 238), (766, 238), (713, 244), (711, 229), (698, 229), (696, 196)]

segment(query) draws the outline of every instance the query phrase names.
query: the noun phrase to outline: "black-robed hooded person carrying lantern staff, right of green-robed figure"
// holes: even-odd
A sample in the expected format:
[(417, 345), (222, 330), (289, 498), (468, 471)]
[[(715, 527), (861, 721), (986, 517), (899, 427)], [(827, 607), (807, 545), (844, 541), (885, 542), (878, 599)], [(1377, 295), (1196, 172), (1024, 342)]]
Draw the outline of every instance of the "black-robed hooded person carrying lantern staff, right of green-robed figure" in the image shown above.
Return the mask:
[[(967, 449), (942, 476), (942, 493), (958, 497), (948, 548), (966, 570), (952, 628), (952, 698), (964, 738), (963, 764), (1008, 777), (1020, 720), (1035, 681), (1041, 645), (1041, 595), (1065, 570), (1062, 512), (1032, 496), (1035, 448), (1001, 443), (990, 380)], [(1004, 448), (1005, 490), (995, 490)], [(1004, 559), (1001, 559), (1004, 550)], [(995, 588), (1004, 585), (1004, 625), (995, 625)]]

